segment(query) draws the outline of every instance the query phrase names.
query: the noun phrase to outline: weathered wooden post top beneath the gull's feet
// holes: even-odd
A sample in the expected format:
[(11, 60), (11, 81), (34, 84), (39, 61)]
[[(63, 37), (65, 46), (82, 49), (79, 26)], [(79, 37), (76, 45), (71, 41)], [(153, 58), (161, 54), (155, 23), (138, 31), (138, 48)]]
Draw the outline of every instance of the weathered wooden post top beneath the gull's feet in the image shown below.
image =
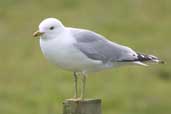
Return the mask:
[(63, 114), (101, 114), (101, 99), (67, 99), (63, 102)]

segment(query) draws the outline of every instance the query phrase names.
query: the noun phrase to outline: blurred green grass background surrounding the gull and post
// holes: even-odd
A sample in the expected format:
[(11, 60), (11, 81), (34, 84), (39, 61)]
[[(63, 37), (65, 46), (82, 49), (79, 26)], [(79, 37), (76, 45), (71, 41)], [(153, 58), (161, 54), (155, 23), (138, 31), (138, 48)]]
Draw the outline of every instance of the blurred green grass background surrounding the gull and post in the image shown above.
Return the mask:
[(94, 30), (167, 62), (91, 74), (103, 114), (171, 114), (170, 0), (0, 0), (0, 114), (62, 114), (72, 73), (50, 65), (32, 37), (41, 20)]

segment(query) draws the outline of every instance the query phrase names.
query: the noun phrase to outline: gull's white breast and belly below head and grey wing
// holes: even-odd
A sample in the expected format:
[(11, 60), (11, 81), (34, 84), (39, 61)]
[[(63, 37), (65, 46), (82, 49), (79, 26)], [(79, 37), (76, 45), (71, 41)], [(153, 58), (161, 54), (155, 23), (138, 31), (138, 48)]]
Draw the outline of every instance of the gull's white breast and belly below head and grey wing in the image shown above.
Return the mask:
[(40, 47), (45, 57), (57, 66), (77, 71), (92, 72), (104, 69), (106, 66), (101, 61), (91, 60), (72, 44), (56, 43), (56, 41), (40, 40)]

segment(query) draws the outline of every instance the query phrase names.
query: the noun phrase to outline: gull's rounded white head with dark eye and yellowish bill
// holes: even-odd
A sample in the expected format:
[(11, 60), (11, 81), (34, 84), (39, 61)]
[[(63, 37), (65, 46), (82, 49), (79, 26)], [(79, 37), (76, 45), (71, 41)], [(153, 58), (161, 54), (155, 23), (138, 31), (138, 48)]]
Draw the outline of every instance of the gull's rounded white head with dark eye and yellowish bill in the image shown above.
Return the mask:
[(33, 33), (34, 37), (52, 38), (64, 29), (64, 25), (56, 18), (47, 18), (39, 24), (39, 30)]

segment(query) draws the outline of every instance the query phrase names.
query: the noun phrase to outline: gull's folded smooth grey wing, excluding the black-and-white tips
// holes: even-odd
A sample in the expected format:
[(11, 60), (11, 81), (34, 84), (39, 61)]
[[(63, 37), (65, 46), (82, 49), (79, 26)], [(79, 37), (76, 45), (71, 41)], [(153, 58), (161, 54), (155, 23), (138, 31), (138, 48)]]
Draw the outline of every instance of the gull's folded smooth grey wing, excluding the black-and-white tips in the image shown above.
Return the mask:
[(136, 58), (136, 53), (132, 49), (111, 42), (95, 32), (84, 29), (69, 29), (77, 41), (74, 45), (88, 58), (103, 62), (117, 62)]

